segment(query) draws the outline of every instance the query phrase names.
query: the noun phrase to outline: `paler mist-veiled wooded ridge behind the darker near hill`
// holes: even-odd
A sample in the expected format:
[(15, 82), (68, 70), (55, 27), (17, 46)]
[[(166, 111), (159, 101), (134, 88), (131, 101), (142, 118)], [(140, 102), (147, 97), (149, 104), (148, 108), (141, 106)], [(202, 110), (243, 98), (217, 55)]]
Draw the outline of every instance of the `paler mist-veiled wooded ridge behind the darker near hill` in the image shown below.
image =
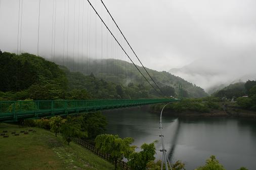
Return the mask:
[[(84, 59), (86, 60), (86, 59)], [(105, 81), (113, 82), (116, 84), (122, 84), (124, 86), (133, 84), (142, 84), (148, 86), (148, 83), (140, 75), (139, 71), (135, 66), (129, 62), (115, 60), (115, 59), (103, 59), (103, 60), (93, 60), (87, 59), (88, 63), (81, 62), (75, 63), (73, 60), (67, 61), (67, 68), (72, 72), (81, 72), (84, 75), (94, 74), (95, 77), (103, 79)], [(62, 65), (62, 61), (57, 61), (59, 65)], [(65, 64), (64, 64), (65, 65)], [(150, 77), (147, 76), (146, 71), (143, 67), (137, 66), (139, 70), (145, 75), (145, 77), (150, 81)], [(151, 75), (153, 80), (165, 90), (165, 88), (173, 87), (176, 92), (179, 90), (179, 84), (182, 84), (183, 95), (185, 97), (205, 97), (208, 94), (204, 90), (188, 81), (174, 76), (165, 71), (158, 72), (152, 69), (146, 68), (148, 73)], [(150, 81), (154, 85), (152, 81)]]

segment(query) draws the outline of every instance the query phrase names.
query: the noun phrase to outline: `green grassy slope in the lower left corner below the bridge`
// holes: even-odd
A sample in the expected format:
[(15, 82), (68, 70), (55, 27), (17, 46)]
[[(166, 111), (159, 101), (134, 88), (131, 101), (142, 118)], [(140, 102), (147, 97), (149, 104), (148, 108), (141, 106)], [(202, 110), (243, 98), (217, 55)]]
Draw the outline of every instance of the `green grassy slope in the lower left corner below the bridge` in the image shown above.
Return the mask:
[[(36, 132), (24, 135), (20, 131)], [(9, 138), (0, 137), (0, 169), (57, 170), (57, 169), (114, 169), (114, 166), (91, 151), (39, 128), (25, 128), (0, 123), (0, 132), (8, 130)], [(14, 136), (11, 131), (20, 133)]]

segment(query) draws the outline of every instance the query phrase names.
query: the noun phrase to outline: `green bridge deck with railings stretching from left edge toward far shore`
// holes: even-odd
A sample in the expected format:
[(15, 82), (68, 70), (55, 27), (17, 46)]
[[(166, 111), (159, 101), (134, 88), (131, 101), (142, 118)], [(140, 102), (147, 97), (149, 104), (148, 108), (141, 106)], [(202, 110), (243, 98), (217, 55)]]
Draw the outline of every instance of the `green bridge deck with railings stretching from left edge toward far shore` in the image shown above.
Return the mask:
[(0, 122), (17, 122), (24, 119), (66, 116), (81, 112), (102, 111), (115, 108), (162, 102), (176, 102), (178, 99), (138, 100), (40, 100), (0, 101)]

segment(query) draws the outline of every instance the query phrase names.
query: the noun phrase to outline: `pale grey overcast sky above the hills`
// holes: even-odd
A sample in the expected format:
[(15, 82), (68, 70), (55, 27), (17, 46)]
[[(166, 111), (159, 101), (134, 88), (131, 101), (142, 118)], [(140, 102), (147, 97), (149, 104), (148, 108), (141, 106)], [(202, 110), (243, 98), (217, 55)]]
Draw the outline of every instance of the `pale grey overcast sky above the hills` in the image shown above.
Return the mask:
[[(21, 46), (18, 47), (21, 52), (36, 53), (39, 0), (23, 0), (19, 39), (19, 0), (0, 1), (0, 49), (16, 52), (18, 42), (21, 40)], [(67, 8), (68, 2), (69, 8)], [(107, 18), (106, 11), (102, 10), (100, 0), (91, 2), (96, 6), (97, 11), (103, 14), (104, 21), (123, 44), (124, 40), (120, 38), (120, 34), (116, 34), (116, 28), (112, 27), (113, 23)], [(256, 1), (254, 0), (105, 0), (104, 2), (141, 61), (148, 68), (158, 71), (189, 68), (175, 73), (190, 78), (189, 81), (203, 88), (208, 88), (207, 84), (231, 81), (249, 74), (256, 75)], [(67, 21), (68, 10), (69, 21)], [(88, 25), (91, 28), (89, 30), (87, 30)], [(97, 26), (96, 31), (95, 26)], [(82, 51), (83, 54), (90, 53), (95, 57), (96, 50), (97, 58), (100, 57), (101, 50), (104, 54), (108, 52), (106, 56), (103, 54), (104, 58), (111, 55), (112, 50), (112, 54), (116, 52), (116, 56), (121, 55), (122, 58), (119, 58), (124, 59), (121, 50), (115, 50), (117, 45), (112, 42), (110, 35), (107, 35), (106, 29), (103, 29), (103, 48), (101, 48), (101, 23), (98, 19), (95, 23), (95, 13), (91, 7), (88, 8), (87, 1), (56, 0), (55, 4), (53, 0), (41, 0), (39, 30), (39, 54), (46, 58), (51, 58), (52, 51), (55, 51), (56, 56), (63, 55), (64, 49), (65, 54), (68, 55), (73, 55), (74, 50), (74, 53), (79, 55), (78, 58), (81, 58)], [(90, 47), (87, 46), (87, 31), (91, 34)], [(95, 32), (97, 32), (96, 36)], [(91, 51), (88, 52), (89, 50)], [(134, 56), (132, 58), (135, 59)], [(214, 82), (211, 81), (211, 76), (214, 76), (212, 77)], [(221, 77), (219, 78), (221, 81), (218, 77)]]

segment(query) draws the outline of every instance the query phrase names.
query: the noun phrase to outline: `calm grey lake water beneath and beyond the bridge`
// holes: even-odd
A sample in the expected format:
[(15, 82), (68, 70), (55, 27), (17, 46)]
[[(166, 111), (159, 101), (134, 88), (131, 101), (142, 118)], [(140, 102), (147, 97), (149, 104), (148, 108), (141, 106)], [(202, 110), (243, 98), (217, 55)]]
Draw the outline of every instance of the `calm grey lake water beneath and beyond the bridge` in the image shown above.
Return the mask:
[[(132, 137), (134, 145), (160, 141), (159, 114), (132, 108), (103, 113), (108, 120), (107, 133)], [(215, 155), (227, 170), (241, 166), (256, 169), (256, 120), (234, 118), (174, 118), (163, 112), (163, 135), (167, 154), (182, 160), (186, 169), (203, 165)], [(156, 144), (160, 149), (161, 143)], [(156, 151), (157, 159), (160, 151)]]

